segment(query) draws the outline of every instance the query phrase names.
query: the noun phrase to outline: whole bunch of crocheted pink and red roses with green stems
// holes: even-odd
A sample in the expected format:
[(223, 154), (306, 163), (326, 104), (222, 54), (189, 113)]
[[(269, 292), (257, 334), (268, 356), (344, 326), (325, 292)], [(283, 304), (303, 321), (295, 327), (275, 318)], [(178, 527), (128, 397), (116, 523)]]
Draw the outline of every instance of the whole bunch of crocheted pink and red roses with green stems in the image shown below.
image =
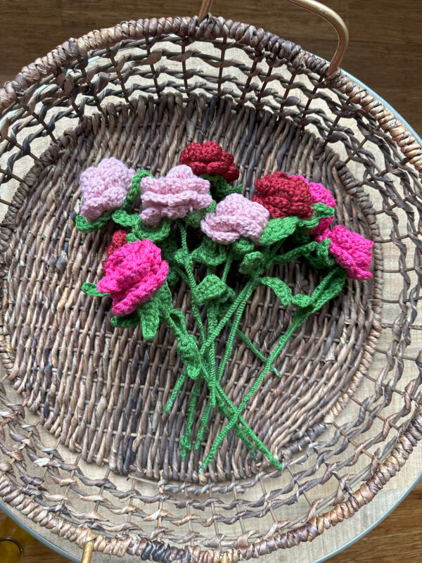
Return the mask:
[[(302, 176), (274, 172), (255, 181), (252, 201), (242, 195), (234, 158), (217, 143), (190, 144), (165, 177), (155, 179), (146, 170), (134, 172), (115, 158), (104, 158), (98, 167), (80, 177), (82, 232), (101, 229), (113, 221), (113, 235), (103, 262), (103, 277), (97, 284), (84, 283), (89, 296), (113, 300), (114, 327), (141, 325), (143, 338), (152, 340), (165, 322), (177, 339), (177, 353), (184, 364), (178, 374), (165, 412), (186, 379), (194, 381), (180, 455), (199, 448), (216, 410), (225, 426), (205, 456), (200, 472), (215, 456), (224, 436), (233, 429), (252, 457), (260, 450), (277, 468), (281, 463), (250, 429), (242, 416), (245, 405), (270, 370), (280, 374), (274, 360), (293, 332), (309, 315), (343, 288), (346, 277), (371, 277), (373, 243), (337, 225), (331, 229), (335, 201), (321, 184)], [(139, 208), (141, 213), (134, 208)], [(310, 295), (293, 295), (283, 279), (269, 274), (271, 266), (292, 260), (307, 260), (322, 271), (321, 281)], [(237, 291), (230, 280), (241, 274)], [(174, 307), (172, 288), (184, 281), (190, 291), (196, 327), (186, 327), (186, 318)], [(281, 305), (295, 308), (290, 327), (264, 355), (239, 328), (245, 305), (258, 286), (268, 286)], [(217, 361), (216, 341), (228, 330), (223, 358)], [(198, 338), (192, 334), (198, 332)], [(222, 388), (224, 368), (231, 358), (236, 336), (262, 362), (255, 382), (238, 405)], [(204, 382), (207, 400), (201, 412), (197, 400)], [(192, 436), (195, 417), (201, 424)]]

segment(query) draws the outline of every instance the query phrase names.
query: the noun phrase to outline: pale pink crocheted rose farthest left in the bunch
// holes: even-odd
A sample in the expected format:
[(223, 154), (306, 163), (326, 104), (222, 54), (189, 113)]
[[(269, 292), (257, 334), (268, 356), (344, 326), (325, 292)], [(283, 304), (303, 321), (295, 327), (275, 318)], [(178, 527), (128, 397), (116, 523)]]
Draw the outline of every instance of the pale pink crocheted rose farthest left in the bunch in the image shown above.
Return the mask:
[(106, 211), (122, 205), (132, 184), (135, 171), (117, 158), (103, 158), (97, 167), (82, 172), (79, 183), (82, 191), (81, 215), (87, 221), (98, 219)]

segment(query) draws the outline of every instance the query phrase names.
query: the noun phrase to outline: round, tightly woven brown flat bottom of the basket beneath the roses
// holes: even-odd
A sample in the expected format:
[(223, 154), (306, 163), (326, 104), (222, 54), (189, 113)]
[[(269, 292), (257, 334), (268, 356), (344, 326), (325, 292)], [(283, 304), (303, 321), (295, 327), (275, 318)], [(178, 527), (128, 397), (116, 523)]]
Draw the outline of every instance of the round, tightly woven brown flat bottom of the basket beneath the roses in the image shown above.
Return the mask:
[[(8, 284), (4, 277), (1, 353), (23, 405), (39, 414), (46, 429), (87, 462), (108, 464), (119, 474), (198, 481), (200, 460), (224, 421), (213, 417), (201, 448), (181, 460), (179, 437), (191, 382), (172, 414), (162, 417), (181, 369), (172, 334), (162, 327), (150, 346), (138, 327), (112, 329), (110, 301), (80, 290), (83, 281), (101, 276), (112, 230), (85, 235), (75, 229), (78, 178), (105, 156), (162, 175), (194, 140), (214, 140), (234, 153), (245, 186), (274, 170), (324, 183), (341, 204), (340, 222), (373, 238), (371, 205), (331, 149), (293, 121), (234, 106), (228, 99), (190, 96), (183, 101), (169, 94), (109, 105), (47, 148), (1, 226), (4, 267), (15, 280)], [(296, 263), (279, 275), (298, 293), (307, 292), (315, 274)], [(290, 457), (314, 441), (325, 429), (324, 417), (337, 415), (358, 386), (375, 348), (372, 328), (379, 311), (371, 305), (372, 291), (371, 282), (350, 281), (341, 296), (309, 319), (278, 360), (281, 377), (268, 374), (245, 409), (245, 419), (274, 455)], [(191, 317), (184, 296), (179, 287), (177, 305)], [(288, 327), (290, 313), (262, 288), (248, 304), (243, 331), (269, 350)], [(224, 337), (217, 359), (223, 346)], [(238, 404), (260, 365), (243, 343), (234, 350), (222, 385)], [(204, 388), (199, 405), (205, 393)], [(262, 463), (229, 433), (208, 476), (241, 479), (262, 469)]]

